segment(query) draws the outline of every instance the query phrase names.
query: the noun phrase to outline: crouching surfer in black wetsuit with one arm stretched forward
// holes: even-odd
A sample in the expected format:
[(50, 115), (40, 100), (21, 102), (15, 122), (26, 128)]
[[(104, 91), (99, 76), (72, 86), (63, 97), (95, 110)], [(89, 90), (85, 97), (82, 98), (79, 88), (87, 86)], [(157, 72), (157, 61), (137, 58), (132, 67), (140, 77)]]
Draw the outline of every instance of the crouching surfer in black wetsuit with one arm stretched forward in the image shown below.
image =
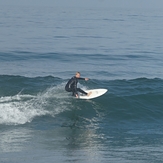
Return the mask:
[(66, 84), (65, 86), (65, 90), (67, 92), (72, 92), (72, 95), (75, 96), (75, 97), (79, 97), (78, 96), (78, 92), (82, 93), (82, 94), (85, 94), (87, 96), (90, 96), (90, 94), (92, 92), (89, 92), (89, 93), (86, 93), (85, 91), (83, 91), (82, 89), (80, 88), (77, 88), (77, 83), (78, 83), (78, 80), (89, 80), (89, 78), (81, 78), (80, 77), (80, 72), (76, 72), (75, 76), (73, 76)]

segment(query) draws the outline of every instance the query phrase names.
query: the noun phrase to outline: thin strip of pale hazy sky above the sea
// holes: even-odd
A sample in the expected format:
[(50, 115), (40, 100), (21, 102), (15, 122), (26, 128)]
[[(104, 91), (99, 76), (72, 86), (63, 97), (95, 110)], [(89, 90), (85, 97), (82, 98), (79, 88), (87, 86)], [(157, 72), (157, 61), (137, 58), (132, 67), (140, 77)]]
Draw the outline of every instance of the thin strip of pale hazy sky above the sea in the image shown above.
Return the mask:
[(0, 5), (163, 8), (163, 0), (0, 0)]

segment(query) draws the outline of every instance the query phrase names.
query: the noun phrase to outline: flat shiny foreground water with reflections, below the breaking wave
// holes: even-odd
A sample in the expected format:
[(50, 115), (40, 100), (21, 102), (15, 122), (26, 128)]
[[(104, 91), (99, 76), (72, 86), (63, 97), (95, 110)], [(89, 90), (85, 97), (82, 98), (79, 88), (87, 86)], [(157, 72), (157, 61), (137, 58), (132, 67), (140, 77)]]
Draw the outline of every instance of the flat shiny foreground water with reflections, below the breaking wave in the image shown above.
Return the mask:
[(46, 126), (35, 130), (27, 126), (8, 127), (0, 130), (0, 162), (131, 162), (133, 158), (142, 162), (146, 156), (160, 161), (160, 142), (160, 133), (145, 135), (124, 128), (112, 131), (97, 126)]

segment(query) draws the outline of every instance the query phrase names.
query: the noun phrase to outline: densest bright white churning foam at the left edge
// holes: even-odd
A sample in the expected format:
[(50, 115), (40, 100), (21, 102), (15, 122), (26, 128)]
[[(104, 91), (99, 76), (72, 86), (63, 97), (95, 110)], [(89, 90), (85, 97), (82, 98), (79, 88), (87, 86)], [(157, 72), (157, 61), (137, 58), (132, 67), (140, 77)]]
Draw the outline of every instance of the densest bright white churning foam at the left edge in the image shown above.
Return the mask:
[(0, 124), (24, 124), (35, 116), (48, 113), (46, 110), (34, 108), (31, 100), (0, 103), (0, 112)]

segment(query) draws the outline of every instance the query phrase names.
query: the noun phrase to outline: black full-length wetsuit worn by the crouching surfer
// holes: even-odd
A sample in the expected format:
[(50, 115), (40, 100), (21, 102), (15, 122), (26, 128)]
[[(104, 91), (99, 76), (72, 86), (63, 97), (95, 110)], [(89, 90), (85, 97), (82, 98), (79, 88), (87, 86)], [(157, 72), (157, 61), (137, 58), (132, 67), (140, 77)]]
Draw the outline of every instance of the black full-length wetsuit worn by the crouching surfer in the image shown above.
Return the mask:
[(66, 84), (65, 86), (65, 90), (67, 92), (72, 92), (72, 95), (73, 96), (76, 96), (76, 94), (78, 92), (81, 92), (85, 95), (87, 95), (86, 92), (84, 92), (82, 89), (80, 88), (77, 88), (77, 83), (78, 83), (78, 80), (85, 80), (85, 78), (77, 78), (76, 76), (72, 77)]

